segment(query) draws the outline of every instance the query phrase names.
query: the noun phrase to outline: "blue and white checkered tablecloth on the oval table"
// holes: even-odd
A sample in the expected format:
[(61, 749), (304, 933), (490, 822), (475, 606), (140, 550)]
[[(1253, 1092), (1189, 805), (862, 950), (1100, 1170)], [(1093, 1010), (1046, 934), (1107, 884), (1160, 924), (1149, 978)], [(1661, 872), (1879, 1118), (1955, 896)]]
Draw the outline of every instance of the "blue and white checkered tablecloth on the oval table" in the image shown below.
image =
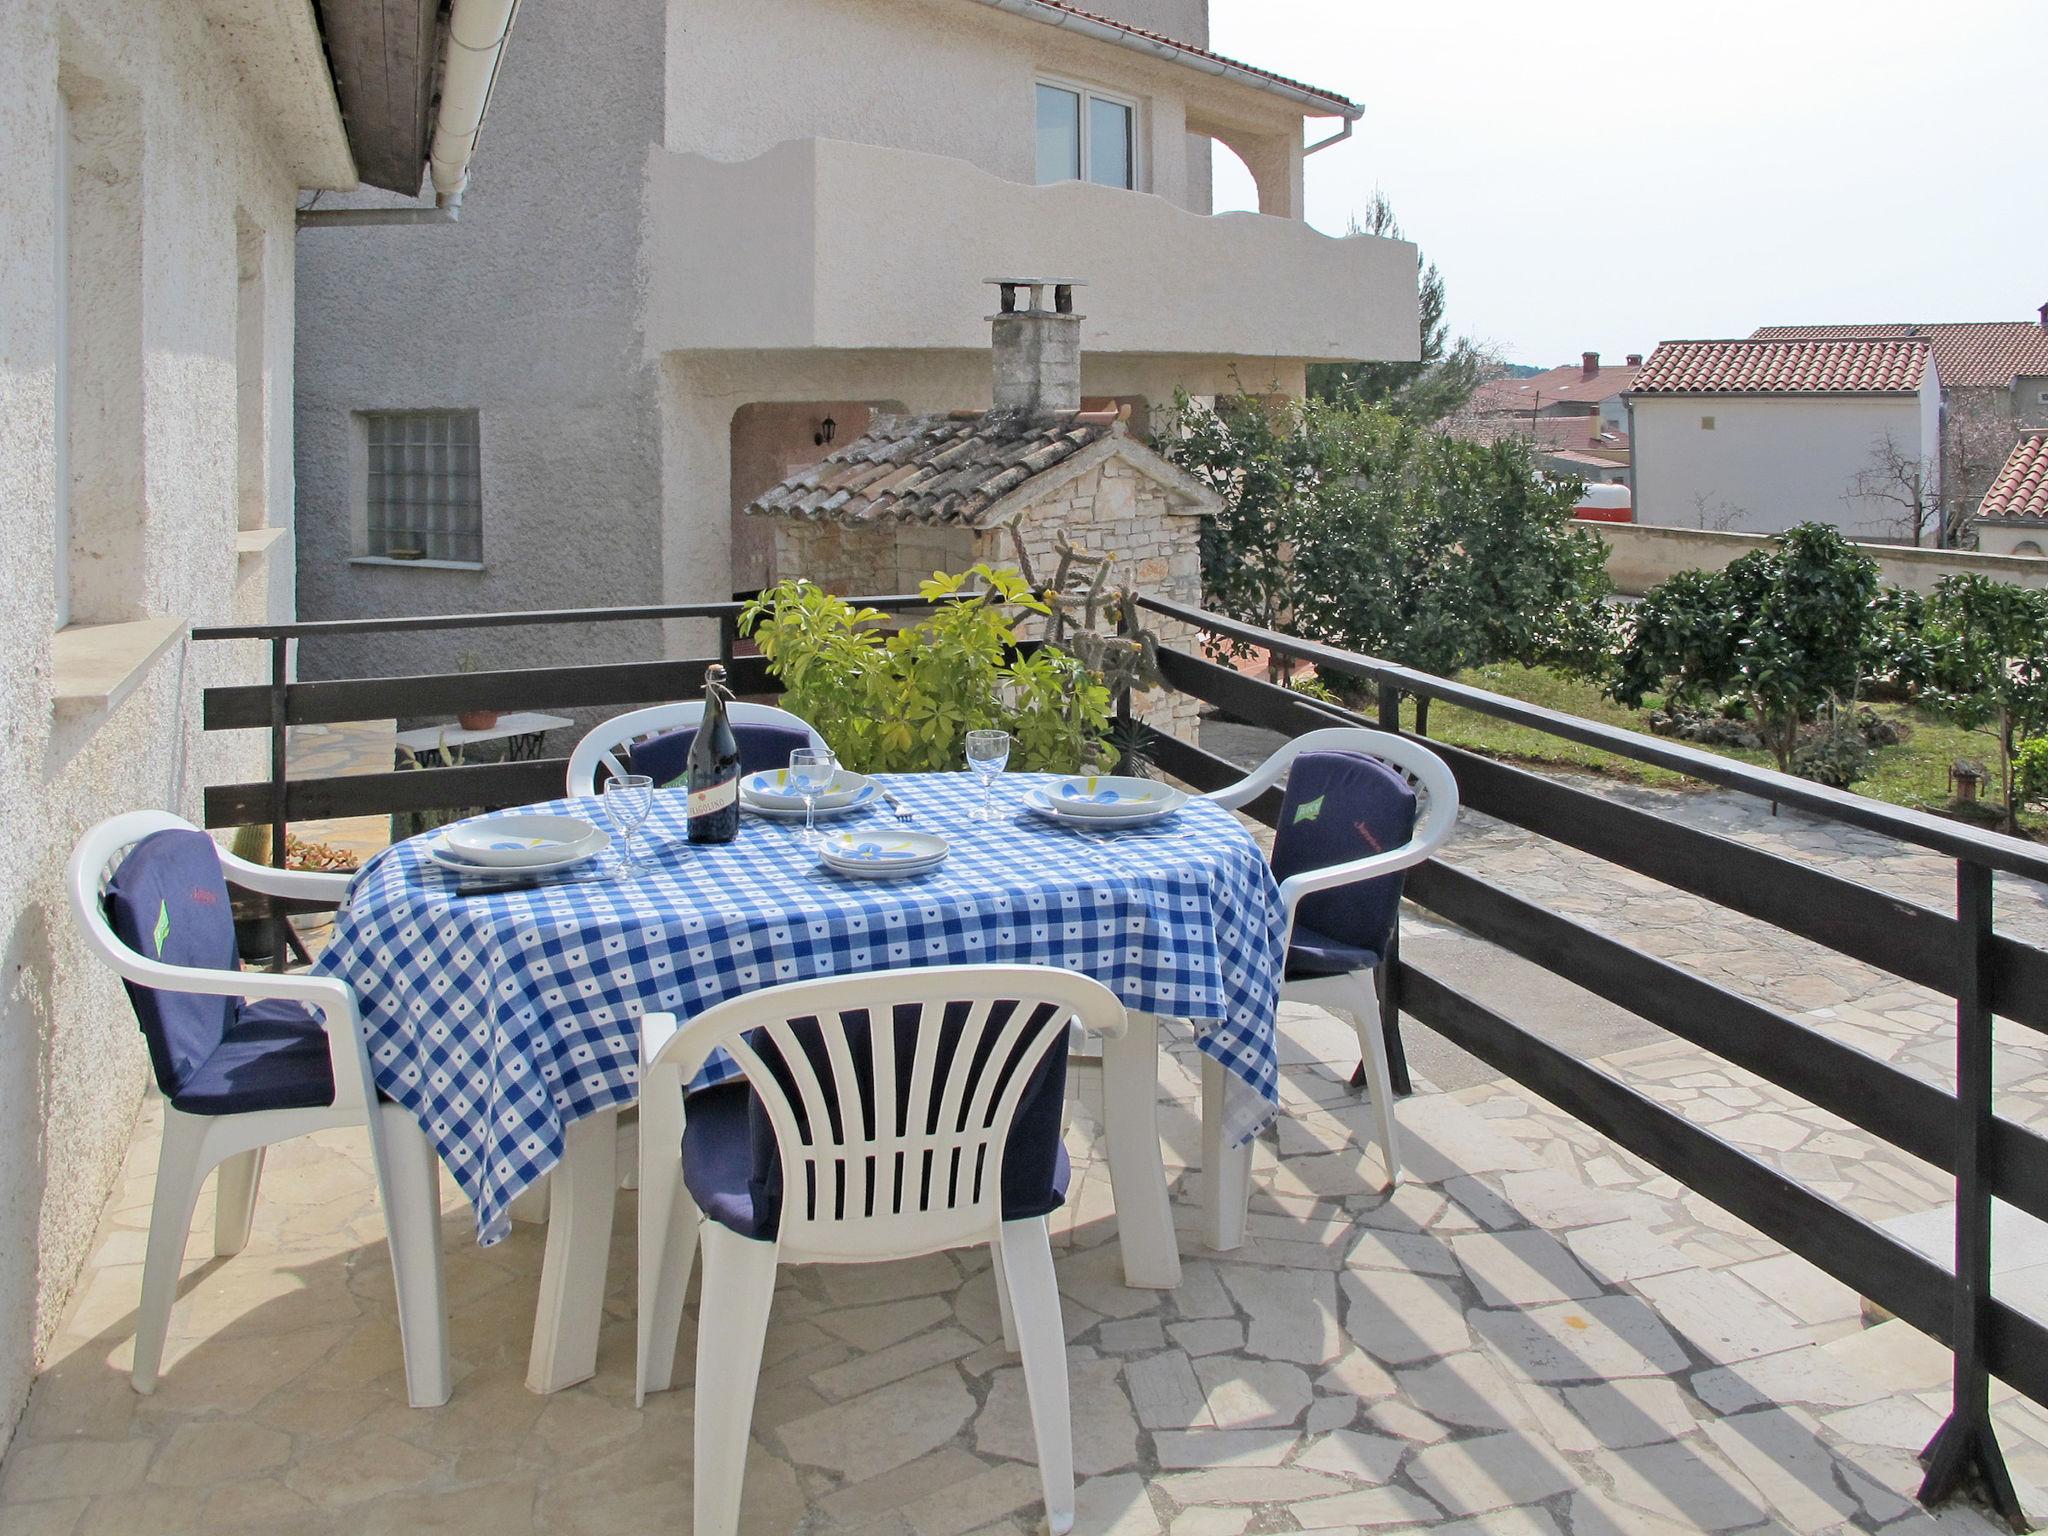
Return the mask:
[[(1274, 1010), (1286, 922), (1260, 846), (1229, 811), (1190, 801), (1153, 827), (1081, 834), (1016, 813), (979, 823), (967, 774), (885, 780), (920, 831), (952, 842), (932, 874), (823, 870), (797, 829), (748, 817), (727, 846), (684, 842), (684, 797), (657, 793), (637, 881), (461, 895), (420, 840), (350, 885), (315, 971), (362, 1006), (371, 1069), (414, 1114), (496, 1243), (512, 1200), (563, 1151), (563, 1128), (637, 1092), (639, 1018), (690, 1018), (784, 981), (903, 965), (1053, 965), (1128, 1008), (1194, 1020), (1231, 1071), (1225, 1130), (1280, 1100)], [(1008, 774), (1016, 811), (1034, 780)], [(535, 807), (604, 825), (596, 801)], [(889, 825), (866, 811), (840, 825)]]

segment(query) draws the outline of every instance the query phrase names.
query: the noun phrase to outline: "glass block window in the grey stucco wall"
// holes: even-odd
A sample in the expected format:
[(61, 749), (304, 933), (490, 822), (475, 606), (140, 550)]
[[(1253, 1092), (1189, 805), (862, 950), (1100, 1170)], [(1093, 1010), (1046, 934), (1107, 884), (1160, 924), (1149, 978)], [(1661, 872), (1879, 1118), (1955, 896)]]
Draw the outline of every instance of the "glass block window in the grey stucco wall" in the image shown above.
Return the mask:
[(365, 412), (365, 555), (483, 563), (475, 412)]

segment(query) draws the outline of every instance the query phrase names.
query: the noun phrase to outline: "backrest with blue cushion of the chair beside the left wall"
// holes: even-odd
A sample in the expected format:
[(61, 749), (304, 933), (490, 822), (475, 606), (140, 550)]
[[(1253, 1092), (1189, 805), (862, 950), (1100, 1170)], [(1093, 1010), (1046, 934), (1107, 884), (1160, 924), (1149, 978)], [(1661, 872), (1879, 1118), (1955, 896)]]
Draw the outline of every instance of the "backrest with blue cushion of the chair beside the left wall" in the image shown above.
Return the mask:
[(166, 811), (92, 827), (72, 854), (72, 907), (86, 942), (123, 971), (150, 1065), (166, 1098), (219, 1047), (236, 999), (133, 979), (125, 954), (205, 971), (238, 971), (233, 907), (213, 838)]

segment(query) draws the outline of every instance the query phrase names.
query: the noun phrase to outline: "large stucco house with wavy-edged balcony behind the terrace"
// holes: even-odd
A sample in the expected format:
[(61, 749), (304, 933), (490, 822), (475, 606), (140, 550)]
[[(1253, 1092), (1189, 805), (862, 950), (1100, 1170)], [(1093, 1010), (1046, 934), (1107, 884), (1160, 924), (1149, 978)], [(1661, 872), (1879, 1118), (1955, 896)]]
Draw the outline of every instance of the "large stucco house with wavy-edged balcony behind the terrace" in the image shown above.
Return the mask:
[[(1417, 356), (1415, 248), (1303, 221), (1307, 121), (1360, 109), (1208, 51), (1206, 0), (524, 0), (520, 37), (459, 225), (301, 244), (309, 618), (758, 590), (760, 492), (877, 412), (987, 403), (993, 272), (1090, 285), (1083, 387), (1135, 420)], [(1260, 213), (1210, 217), (1217, 141)], [(664, 639), (705, 643), (508, 633)]]

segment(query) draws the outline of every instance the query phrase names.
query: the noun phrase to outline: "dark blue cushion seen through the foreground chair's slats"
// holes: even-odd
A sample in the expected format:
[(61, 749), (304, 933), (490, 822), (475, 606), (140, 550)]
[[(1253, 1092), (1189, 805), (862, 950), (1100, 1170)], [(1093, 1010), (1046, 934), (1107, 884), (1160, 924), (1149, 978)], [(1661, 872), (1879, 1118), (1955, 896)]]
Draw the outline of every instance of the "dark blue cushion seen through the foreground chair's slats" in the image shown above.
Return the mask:
[[(997, 1012), (991, 1016), (991, 1036), (1006, 1018), (999, 1012), (1006, 1006), (1012, 1004), (997, 1004)], [(940, 1044), (934, 1081), (942, 1083), (946, 1079), (946, 1067), (952, 1057), (948, 1047), (956, 1042), (965, 1012), (965, 1006), (956, 1006), (942, 1022), (942, 1028), (948, 1030), (950, 1038)], [(1047, 1006), (1044, 1012), (1049, 1014), (1051, 1008)], [(905, 1087), (915, 1049), (915, 1010), (909, 1008), (897, 1010), (895, 1016), (895, 1059)], [(819, 1081), (829, 1083), (829, 1067), (823, 1055), (817, 1024), (811, 1020), (799, 1020), (795, 1028), (797, 1036), (805, 1044), (805, 1053), (811, 1055), (815, 1063)], [(854, 1016), (848, 1024), (852, 1059), (862, 1069), (870, 1061), (866, 1036), (868, 1028), (870, 1022), (860, 1016)], [(1036, 1036), (1036, 1028), (1026, 1030), (1026, 1036)], [(801, 1114), (801, 1098), (795, 1092), (795, 1079), (788, 1077), (788, 1067), (780, 1059), (780, 1053), (768, 1044), (764, 1036), (756, 1036), (754, 1044), (770, 1071), (784, 1079), (791, 1104), (797, 1106)], [(983, 1059), (981, 1067), (987, 1067), (987, 1059)], [(1067, 1161), (1067, 1149), (1061, 1143), (1065, 1094), (1067, 1051), (1065, 1040), (1059, 1040), (1032, 1071), (1030, 1081), (1024, 1085), (1024, 1096), (1018, 1102), (1016, 1118), (1010, 1122), (1010, 1141), (1004, 1147), (1004, 1221), (1044, 1217), (1057, 1210), (1067, 1198), (1071, 1165)], [(899, 1102), (901, 1098), (903, 1092), (899, 1090)], [(938, 1094), (934, 1094), (934, 1100), (936, 1098)], [(844, 1114), (848, 1110), (848, 1106), (842, 1104), (834, 1104), (831, 1108), (836, 1114)], [(872, 1087), (866, 1081), (862, 1081), (860, 1104), (850, 1108), (860, 1116), (860, 1126), (872, 1126), (874, 1102)], [(932, 1112), (938, 1112), (936, 1102)], [(879, 1178), (893, 1178), (893, 1174), (881, 1171)], [(735, 1079), (731, 1083), (690, 1094), (682, 1133), (682, 1182), (696, 1200), (698, 1210), (741, 1237), (770, 1241), (780, 1231), (784, 1196), (782, 1159), (774, 1143), (774, 1126), (768, 1120), (768, 1112), (745, 1081)], [(825, 1194), (827, 1200), (831, 1200), (827, 1210), (850, 1221), (860, 1221), (870, 1208), (870, 1200), (874, 1210), (883, 1210), (889, 1204), (889, 1192), (883, 1190)], [(965, 1204), (965, 1196), (961, 1202)], [(944, 1204), (944, 1200), (932, 1198), (932, 1204), (938, 1206)]]

